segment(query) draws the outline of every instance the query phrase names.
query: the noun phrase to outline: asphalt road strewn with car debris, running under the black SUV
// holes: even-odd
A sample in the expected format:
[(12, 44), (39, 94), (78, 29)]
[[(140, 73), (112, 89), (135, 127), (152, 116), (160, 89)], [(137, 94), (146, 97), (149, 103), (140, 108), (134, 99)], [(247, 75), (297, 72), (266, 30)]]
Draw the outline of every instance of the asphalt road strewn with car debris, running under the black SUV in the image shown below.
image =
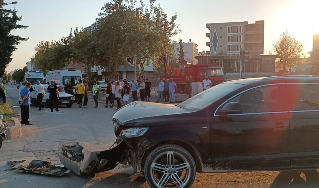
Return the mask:
[[(16, 86), (6, 85), (7, 98), (11, 103), (18, 100)], [(93, 108), (89, 100), (88, 108), (61, 106), (60, 112), (50, 112), (49, 108), (37, 111), (31, 107), (30, 120), (33, 125), (23, 126), (23, 137), (4, 141), (0, 150), (0, 187), (148, 187), (143, 178), (134, 174), (129, 166), (118, 166), (112, 171), (102, 172), (95, 177), (80, 177), (73, 173), (64, 177), (48, 177), (24, 172), (7, 171), (7, 160), (33, 159), (60, 164), (57, 155), (59, 142), (79, 142), (85, 148), (105, 150), (115, 141), (112, 115), (116, 108)], [(13, 109), (19, 115), (19, 104)], [(193, 187), (319, 187), (318, 171), (269, 171), (223, 174), (198, 174)]]

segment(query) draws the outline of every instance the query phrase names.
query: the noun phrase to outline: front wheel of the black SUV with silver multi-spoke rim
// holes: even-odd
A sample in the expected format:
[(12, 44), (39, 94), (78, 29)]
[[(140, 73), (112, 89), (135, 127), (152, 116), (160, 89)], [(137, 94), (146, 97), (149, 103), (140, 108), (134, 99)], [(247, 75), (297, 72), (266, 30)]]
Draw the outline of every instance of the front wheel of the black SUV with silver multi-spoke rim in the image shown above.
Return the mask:
[(178, 145), (165, 144), (155, 148), (144, 165), (145, 179), (152, 188), (191, 187), (196, 165), (187, 150)]

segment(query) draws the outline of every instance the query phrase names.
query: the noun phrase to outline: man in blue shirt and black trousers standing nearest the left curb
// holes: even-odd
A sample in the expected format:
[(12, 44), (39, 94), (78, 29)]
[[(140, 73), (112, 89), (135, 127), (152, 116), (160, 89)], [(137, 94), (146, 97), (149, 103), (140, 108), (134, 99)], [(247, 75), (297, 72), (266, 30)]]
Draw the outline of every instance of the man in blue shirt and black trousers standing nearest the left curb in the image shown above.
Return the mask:
[(21, 124), (25, 125), (32, 125), (29, 123), (29, 113), (30, 113), (30, 89), (31, 83), (27, 83), (26, 87), (23, 88), (20, 92), (20, 96), (22, 101), (20, 102), (21, 105)]

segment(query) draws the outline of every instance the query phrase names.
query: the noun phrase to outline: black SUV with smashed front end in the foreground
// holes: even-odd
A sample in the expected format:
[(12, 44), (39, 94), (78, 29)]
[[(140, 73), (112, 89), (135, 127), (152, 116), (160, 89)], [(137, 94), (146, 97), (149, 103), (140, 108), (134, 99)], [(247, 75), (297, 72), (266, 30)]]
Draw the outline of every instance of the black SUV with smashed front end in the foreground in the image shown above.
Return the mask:
[(176, 106), (131, 102), (113, 124), (115, 147), (72, 161), (78, 143), (60, 144), (61, 162), (82, 175), (130, 164), (152, 188), (191, 187), (196, 172), (318, 169), (319, 77), (227, 81)]

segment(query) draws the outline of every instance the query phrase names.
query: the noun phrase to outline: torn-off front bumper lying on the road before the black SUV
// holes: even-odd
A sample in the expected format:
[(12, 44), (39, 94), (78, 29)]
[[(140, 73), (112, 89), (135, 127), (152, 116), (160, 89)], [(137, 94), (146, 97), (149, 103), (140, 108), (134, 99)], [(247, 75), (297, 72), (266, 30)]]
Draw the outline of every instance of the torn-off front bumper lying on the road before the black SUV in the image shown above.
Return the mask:
[(59, 144), (59, 158), (61, 163), (77, 175), (88, 176), (93, 173), (114, 169), (121, 159), (126, 143), (122, 140), (109, 150), (90, 151), (84, 149), (78, 142)]

